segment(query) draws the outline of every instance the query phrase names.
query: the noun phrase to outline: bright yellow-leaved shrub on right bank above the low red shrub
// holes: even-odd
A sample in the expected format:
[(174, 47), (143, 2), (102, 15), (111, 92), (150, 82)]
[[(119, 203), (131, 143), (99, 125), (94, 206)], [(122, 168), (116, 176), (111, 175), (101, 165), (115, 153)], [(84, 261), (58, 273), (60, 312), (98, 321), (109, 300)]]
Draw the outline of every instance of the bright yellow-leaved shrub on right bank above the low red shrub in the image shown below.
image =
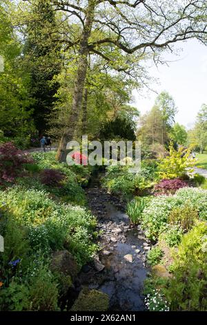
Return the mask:
[(163, 179), (177, 178), (186, 174), (186, 171), (192, 172), (195, 160), (190, 158), (190, 149), (179, 147), (175, 150), (170, 144), (169, 156), (163, 158), (159, 165), (159, 176)]

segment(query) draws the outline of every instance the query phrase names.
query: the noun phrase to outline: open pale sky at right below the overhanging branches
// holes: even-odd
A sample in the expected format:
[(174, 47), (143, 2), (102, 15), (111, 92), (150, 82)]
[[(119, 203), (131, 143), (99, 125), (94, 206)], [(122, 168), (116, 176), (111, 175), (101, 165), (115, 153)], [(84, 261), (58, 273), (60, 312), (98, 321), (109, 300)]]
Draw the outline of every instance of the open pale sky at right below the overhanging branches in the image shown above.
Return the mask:
[(207, 104), (207, 46), (190, 39), (176, 44), (175, 48), (182, 48), (179, 56), (164, 55), (164, 59), (170, 61), (168, 66), (150, 67), (150, 76), (158, 78), (150, 84), (153, 91), (134, 91), (133, 97), (137, 109), (143, 114), (152, 108), (157, 93), (168, 91), (178, 109), (175, 121), (190, 129), (201, 104)]

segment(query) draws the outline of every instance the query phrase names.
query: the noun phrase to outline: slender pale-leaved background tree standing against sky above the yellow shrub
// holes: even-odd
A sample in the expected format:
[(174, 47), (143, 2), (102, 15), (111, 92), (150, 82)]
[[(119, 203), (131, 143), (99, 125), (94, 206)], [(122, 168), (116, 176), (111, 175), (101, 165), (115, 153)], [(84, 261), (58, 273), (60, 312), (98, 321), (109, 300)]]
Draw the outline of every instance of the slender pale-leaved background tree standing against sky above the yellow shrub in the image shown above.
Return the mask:
[(172, 125), (175, 123), (177, 108), (172, 96), (170, 96), (166, 91), (162, 91), (157, 96), (155, 105), (159, 108), (162, 115), (161, 144), (164, 145), (166, 133), (170, 131)]

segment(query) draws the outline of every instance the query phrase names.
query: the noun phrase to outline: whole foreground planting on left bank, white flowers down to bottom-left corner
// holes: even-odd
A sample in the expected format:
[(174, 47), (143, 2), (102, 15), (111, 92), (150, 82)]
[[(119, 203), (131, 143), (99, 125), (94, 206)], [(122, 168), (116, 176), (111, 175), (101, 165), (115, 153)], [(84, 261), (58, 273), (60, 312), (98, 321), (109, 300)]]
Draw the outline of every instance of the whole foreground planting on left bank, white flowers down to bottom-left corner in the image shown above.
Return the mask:
[(0, 310), (57, 310), (62, 281), (50, 270), (51, 254), (68, 250), (81, 268), (97, 250), (95, 218), (37, 189), (1, 191), (0, 203), (6, 243), (0, 257)]

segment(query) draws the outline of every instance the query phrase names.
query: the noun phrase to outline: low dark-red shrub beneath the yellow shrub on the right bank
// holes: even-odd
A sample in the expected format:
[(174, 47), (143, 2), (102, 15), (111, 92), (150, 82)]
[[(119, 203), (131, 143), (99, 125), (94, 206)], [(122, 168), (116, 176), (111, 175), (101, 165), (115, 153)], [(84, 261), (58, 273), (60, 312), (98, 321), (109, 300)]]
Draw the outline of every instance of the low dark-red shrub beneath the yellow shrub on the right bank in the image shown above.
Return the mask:
[(175, 179), (164, 179), (154, 187), (155, 196), (158, 195), (169, 195), (175, 194), (177, 189), (181, 189), (182, 187), (187, 187), (188, 183), (184, 180), (180, 180), (179, 178)]

